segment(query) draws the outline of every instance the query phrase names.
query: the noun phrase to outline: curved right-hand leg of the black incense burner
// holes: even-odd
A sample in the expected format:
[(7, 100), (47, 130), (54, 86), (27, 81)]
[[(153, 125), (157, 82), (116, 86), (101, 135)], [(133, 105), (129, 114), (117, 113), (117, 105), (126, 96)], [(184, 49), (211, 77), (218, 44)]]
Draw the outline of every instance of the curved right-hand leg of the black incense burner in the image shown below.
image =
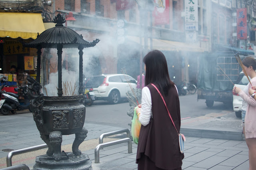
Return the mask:
[(79, 133), (76, 133), (76, 138), (72, 145), (72, 152), (76, 156), (81, 155), (81, 151), (78, 149), (78, 147), (87, 137), (87, 133), (88, 133), (88, 130), (86, 128), (82, 128), (82, 130)]

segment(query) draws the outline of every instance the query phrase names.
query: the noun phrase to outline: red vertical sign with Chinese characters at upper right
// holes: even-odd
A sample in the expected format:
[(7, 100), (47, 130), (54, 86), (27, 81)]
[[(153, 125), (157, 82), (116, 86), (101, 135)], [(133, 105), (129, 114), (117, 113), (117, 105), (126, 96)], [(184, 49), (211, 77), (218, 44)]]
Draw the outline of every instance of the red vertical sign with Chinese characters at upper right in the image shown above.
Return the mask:
[(236, 30), (238, 40), (247, 40), (247, 11), (246, 8), (236, 10)]

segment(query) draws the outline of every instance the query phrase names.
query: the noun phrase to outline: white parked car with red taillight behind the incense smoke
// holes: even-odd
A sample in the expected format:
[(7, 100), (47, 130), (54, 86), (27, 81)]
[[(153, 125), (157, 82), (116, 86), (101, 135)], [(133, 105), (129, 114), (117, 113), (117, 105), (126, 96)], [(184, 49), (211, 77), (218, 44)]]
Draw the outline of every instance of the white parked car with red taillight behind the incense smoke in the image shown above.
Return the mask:
[(137, 81), (130, 75), (124, 77), (123, 74), (102, 74), (88, 78), (86, 86), (92, 86), (96, 100), (117, 104), (122, 98), (126, 98), (126, 92), (130, 90), (128, 83), (136, 88)]

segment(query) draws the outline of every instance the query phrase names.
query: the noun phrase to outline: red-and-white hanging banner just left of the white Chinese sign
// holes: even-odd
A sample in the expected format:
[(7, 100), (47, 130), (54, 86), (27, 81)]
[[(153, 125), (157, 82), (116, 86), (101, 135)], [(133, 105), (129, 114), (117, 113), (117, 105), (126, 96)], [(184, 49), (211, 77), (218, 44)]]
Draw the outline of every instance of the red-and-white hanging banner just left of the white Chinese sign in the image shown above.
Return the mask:
[(157, 4), (154, 7), (153, 18), (154, 25), (168, 25), (170, 24), (170, 7), (169, 0), (154, 0)]

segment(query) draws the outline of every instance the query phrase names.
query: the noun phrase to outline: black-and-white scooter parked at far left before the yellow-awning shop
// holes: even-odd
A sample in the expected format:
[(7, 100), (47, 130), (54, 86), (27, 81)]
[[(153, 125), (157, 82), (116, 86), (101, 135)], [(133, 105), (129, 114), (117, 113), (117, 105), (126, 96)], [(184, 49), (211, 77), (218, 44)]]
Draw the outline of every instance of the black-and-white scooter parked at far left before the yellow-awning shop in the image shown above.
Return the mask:
[[(5, 77), (1, 78), (1, 87), (0, 87), (0, 94), (1, 94), (1, 100), (0, 100), (0, 113), (3, 115), (8, 115), (10, 111), (12, 113), (15, 113), (16, 110), (30, 110), (30, 100), (28, 99), (28, 85), (20, 86), (14, 88), (14, 91), (16, 93), (6, 92), (5, 90), (2, 90), (3, 87), (6, 87), (6, 81), (7, 79)], [(22, 95), (24, 99), (19, 99), (18, 91), (22, 91)], [(21, 98), (21, 97), (20, 97)]]

